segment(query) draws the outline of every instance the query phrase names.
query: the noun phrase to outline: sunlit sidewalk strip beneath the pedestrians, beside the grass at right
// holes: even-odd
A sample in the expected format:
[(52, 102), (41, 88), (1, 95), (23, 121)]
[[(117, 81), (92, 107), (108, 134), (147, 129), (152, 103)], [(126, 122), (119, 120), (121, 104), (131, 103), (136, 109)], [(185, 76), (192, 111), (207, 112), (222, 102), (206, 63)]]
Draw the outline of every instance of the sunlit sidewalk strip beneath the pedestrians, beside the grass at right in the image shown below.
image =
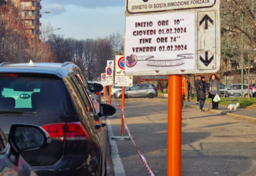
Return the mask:
[[(185, 101), (185, 105), (188, 107), (194, 107), (199, 109), (199, 105), (196, 104), (196, 101)], [(255, 110), (249, 110), (249, 109), (241, 109), (237, 108), (237, 110), (230, 110), (227, 108), (227, 105), (220, 105), (218, 110), (213, 110), (212, 104), (209, 102), (205, 102), (204, 104), (204, 110), (205, 111), (212, 111), (215, 113), (221, 113), (229, 116), (235, 116), (243, 119), (253, 120), (256, 121), (256, 111)]]

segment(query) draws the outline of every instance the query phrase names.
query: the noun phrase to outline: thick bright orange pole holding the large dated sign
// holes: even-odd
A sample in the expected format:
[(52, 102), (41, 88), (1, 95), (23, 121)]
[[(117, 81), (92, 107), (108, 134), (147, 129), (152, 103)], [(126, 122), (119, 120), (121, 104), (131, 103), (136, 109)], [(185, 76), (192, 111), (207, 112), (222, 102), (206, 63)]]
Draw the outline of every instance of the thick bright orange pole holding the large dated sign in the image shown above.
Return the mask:
[(167, 176), (181, 176), (181, 75), (169, 75)]

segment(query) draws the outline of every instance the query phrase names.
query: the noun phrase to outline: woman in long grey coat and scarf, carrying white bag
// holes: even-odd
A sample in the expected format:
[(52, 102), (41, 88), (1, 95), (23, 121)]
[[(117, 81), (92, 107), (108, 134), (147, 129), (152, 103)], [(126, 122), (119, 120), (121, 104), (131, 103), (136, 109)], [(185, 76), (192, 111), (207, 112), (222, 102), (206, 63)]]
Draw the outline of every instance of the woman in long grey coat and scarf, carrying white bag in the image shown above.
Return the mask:
[(211, 99), (212, 99), (212, 109), (218, 109), (219, 107), (218, 102), (213, 101), (215, 95), (219, 94), (219, 78), (215, 74), (212, 74), (210, 77), (209, 92), (211, 94)]

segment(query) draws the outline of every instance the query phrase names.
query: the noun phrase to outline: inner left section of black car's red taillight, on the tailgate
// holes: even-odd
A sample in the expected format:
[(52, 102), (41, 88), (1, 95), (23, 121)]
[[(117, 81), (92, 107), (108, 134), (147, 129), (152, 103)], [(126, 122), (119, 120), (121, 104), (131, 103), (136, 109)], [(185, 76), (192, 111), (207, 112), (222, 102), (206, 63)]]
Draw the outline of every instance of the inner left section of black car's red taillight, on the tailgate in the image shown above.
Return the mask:
[(52, 139), (54, 140), (64, 140), (63, 128), (65, 123), (56, 123), (56, 124), (46, 124), (42, 127), (49, 133)]

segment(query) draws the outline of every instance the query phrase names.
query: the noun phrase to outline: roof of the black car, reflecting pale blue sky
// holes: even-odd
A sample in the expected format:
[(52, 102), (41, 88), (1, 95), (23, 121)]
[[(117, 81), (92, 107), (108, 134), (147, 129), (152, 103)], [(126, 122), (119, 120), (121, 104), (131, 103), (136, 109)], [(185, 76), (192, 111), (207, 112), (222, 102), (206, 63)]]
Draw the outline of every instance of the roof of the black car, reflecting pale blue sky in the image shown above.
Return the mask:
[(79, 68), (73, 62), (64, 63), (10, 63), (4, 62), (0, 64), (0, 72), (12, 73), (45, 73), (55, 74), (60, 78), (65, 77), (74, 68)]

